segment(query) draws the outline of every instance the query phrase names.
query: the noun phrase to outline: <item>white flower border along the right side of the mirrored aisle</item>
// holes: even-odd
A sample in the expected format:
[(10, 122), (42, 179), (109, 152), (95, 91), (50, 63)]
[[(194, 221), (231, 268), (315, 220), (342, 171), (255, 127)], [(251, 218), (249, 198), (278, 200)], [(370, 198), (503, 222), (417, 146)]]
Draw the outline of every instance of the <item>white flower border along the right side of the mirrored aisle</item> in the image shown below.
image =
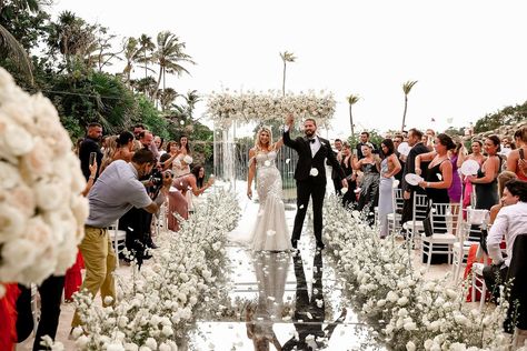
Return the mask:
[[(364, 318), (394, 350), (509, 350), (503, 332), (508, 303), (483, 313), (465, 303), (466, 289), (447, 279), (427, 280), (416, 271), (411, 252), (395, 239), (345, 210), (336, 198), (325, 202), (324, 238), (337, 275)], [(523, 348), (521, 350), (525, 350)]]

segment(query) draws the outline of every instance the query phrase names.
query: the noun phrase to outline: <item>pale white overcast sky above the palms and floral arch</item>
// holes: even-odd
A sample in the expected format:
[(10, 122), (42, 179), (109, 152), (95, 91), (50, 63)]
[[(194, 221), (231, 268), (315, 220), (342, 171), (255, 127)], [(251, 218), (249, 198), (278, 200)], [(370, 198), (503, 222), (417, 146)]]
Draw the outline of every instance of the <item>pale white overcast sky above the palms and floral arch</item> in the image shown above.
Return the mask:
[(227, 88), (281, 89), (279, 52), (294, 52), (286, 90), (334, 93), (331, 138), (350, 133), (350, 93), (360, 97), (357, 130), (400, 129), (409, 80), (418, 82), (407, 128), (467, 127), (527, 99), (525, 1), (56, 0), (51, 12), (63, 10), (119, 38), (172, 31), (197, 64), (167, 87), (205, 99)]

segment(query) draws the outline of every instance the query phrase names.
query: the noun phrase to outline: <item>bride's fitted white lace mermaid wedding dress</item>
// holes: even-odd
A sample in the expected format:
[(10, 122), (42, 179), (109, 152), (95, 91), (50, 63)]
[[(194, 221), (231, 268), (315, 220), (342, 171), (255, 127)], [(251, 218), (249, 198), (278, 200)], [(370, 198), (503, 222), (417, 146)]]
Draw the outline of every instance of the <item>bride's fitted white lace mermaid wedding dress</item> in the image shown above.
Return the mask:
[(256, 162), (256, 189), (260, 201), (251, 233), (251, 249), (285, 251), (292, 249), (282, 200), (281, 176), (276, 167), (277, 152), (259, 152)]

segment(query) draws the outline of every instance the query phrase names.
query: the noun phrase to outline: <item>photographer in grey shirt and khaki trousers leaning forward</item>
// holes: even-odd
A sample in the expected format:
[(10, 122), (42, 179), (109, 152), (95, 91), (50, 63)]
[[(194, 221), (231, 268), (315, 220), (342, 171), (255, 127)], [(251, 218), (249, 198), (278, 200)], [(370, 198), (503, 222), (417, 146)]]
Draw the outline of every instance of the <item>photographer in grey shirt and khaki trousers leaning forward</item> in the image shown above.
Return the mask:
[[(108, 227), (112, 225), (132, 207), (156, 213), (165, 202), (165, 194), (172, 182), (171, 178), (162, 180), (159, 194), (152, 200), (139, 181), (150, 174), (157, 160), (149, 150), (137, 151), (130, 163), (117, 160), (110, 163), (88, 195), (90, 214), (84, 224), (84, 238), (79, 245), (84, 259), (86, 279), (80, 290), (87, 289), (92, 297), (101, 291), (105, 298), (116, 298), (113, 270), (116, 253), (108, 235)], [(72, 327), (81, 324), (78, 313), (74, 314)]]

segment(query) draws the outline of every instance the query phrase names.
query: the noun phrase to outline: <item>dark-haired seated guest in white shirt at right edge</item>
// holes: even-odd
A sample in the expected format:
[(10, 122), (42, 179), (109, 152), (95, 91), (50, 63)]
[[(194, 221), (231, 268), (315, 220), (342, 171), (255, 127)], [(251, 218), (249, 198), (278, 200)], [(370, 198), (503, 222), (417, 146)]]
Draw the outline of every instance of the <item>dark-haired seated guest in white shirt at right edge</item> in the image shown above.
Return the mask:
[[(527, 182), (517, 179), (508, 181), (501, 202), (504, 208), (499, 210), (487, 237), (488, 255), (493, 264), (484, 269), (485, 283), (495, 297), (499, 297), (496, 284), (504, 283), (507, 277), (516, 237), (527, 234)], [(507, 244), (505, 259), (499, 248), (503, 238)]]

